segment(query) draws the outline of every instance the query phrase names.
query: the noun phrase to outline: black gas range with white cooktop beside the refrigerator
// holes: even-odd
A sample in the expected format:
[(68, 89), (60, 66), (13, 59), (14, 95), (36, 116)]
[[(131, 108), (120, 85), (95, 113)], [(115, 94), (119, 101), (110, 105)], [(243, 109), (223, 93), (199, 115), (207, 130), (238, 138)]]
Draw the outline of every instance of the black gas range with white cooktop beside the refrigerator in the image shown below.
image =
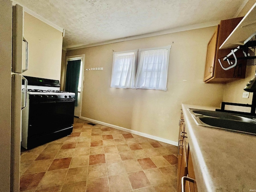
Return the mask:
[(60, 82), (25, 76), (27, 107), (22, 110), (22, 147), (31, 149), (70, 135), (74, 123), (75, 94), (60, 91)]

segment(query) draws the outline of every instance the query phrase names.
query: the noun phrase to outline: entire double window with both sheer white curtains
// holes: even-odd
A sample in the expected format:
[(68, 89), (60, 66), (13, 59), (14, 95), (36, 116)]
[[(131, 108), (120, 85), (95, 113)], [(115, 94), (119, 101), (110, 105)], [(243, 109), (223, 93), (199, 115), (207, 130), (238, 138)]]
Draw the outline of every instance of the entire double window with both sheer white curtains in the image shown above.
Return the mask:
[(114, 52), (110, 86), (167, 90), (170, 48), (166, 46), (139, 50), (138, 66), (138, 50)]

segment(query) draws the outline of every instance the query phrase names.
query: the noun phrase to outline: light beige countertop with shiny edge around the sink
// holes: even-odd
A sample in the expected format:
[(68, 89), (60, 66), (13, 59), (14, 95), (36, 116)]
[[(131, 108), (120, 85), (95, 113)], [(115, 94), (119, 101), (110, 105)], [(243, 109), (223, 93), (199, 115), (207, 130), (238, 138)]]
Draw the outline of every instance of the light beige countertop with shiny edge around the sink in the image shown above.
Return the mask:
[(197, 125), (182, 104), (198, 192), (256, 191), (256, 136)]

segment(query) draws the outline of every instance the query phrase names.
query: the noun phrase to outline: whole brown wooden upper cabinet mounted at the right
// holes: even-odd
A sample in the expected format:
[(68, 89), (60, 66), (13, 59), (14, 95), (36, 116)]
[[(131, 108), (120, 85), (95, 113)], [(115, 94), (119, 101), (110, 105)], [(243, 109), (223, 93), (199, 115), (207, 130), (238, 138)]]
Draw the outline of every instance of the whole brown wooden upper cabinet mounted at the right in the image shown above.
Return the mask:
[[(218, 59), (220, 59), (224, 68), (231, 66), (227, 61), (223, 61), (223, 58), (227, 56), (232, 49), (219, 50), (219, 48), (241, 20), (242, 17), (222, 20), (217, 26), (208, 43), (204, 82), (228, 83), (245, 78), (246, 60), (238, 60), (236, 66), (228, 70), (224, 70), (218, 61)], [(236, 52), (237, 57), (242, 57), (241, 54), (242, 52)], [(234, 60), (230, 58), (230, 62), (234, 62)]]

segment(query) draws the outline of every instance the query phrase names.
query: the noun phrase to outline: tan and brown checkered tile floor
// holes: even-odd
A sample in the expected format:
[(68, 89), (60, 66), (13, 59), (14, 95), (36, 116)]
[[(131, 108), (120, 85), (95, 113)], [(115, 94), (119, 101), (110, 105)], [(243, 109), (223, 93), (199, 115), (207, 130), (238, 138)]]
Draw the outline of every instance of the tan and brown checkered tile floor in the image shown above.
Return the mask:
[(70, 136), (22, 149), (22, 192), (176, 192), (177, 147), (74, 119)]

